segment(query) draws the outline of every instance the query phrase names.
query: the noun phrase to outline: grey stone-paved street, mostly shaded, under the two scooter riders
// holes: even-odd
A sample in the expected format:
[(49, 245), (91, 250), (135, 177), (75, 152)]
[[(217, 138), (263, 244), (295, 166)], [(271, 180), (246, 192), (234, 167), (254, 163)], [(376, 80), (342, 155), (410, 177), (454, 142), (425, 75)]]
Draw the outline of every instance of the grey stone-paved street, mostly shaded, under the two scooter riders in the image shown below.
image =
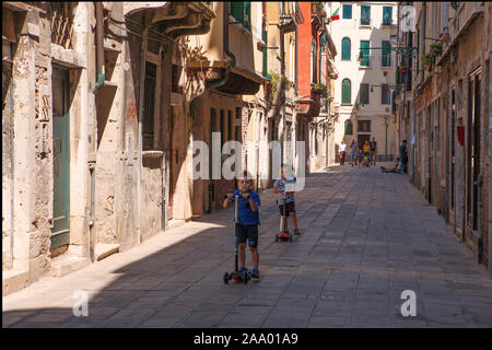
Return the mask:
[[(262, 279), (227, 284), (232, 208), (63, 278), (3, 298), (3, 327), (491, 327), (492, 280), (406, 176), (335, 166), (296, 194), (300, 229), (276, 243), (261, 196)], [(248, 252), (247, 264), (250, 267)], [(89, 317), (72, 314), (89, 293)], [(417, 294), (402, 317), (401, 292)]]

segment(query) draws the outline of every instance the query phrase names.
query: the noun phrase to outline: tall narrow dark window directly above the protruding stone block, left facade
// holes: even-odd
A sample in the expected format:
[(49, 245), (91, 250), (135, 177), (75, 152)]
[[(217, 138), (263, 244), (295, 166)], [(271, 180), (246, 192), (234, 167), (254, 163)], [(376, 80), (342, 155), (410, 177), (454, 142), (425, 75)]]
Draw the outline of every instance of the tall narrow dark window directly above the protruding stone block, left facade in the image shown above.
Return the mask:
[(157, 66), (145, 62), (145, 80), (143, 88), (143, 120), (142, 120), (142, 148), (144, 151), (152, 150), (154, 145), (154, 104), (155, 104), (155, 80)]

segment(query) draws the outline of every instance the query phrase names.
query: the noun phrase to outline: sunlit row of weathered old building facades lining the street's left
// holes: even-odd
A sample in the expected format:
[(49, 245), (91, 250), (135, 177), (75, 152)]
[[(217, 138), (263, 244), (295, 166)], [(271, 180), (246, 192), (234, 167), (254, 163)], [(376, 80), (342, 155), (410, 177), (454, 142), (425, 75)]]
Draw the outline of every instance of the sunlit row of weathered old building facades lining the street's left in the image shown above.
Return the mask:
[[(312, 82), (329, 86), (336, 49), (313, 4), (3, 2), (3, 294), (220, 209), (231, 156), (258, 190), (273, 160), (326, 165), (309, 153), (328, 147), (329, 117), (313, 132)], [(261, 143), (282, 140), (281, 153)], [(214, 145), (219, 166), (196, 166)]]

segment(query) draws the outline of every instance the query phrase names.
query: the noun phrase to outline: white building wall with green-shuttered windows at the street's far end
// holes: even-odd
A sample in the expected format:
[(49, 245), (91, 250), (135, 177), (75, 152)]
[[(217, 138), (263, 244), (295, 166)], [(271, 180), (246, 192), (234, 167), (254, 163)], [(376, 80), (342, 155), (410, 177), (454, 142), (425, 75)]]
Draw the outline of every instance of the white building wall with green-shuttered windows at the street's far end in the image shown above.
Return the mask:
[[(343, 19), (343, 4), (352, 5), (352, 19)], [(371, 24), (368, 26), (361, 25), (361, 5), (371, 5)], [(339, 9), (338, 14), (340, 20), (333, 21), (328, 25), (331, 37), (336, 45), (338, 55), (335, 58), (336, 67), (339, 71), (339, 78), (335, 82), (335, 102), (340, 104), (340, 117), (335, 125), (335, 144), (336, 150), (340, 145), (340, 141), (348, 144), (352, 139), (358, 140), (358, 124), (356, 119), (371, 120), (371, 139), (376, 138), (378, 154), (385, 152), (387, 148), (388, 155), (395, 154), (395, 127), (394, 118), (391, 116), (391, 105), (382, 104), (382, 88), (378, 85), (388, 83), (395, 84), (395, 52), (391, 50), (391, 67), (382, 68), (382, 52), (383, 40), (389, 40), (391, 28), (383, 26), (383, 7), (393, 7), (393, 24), (397, 23), (397, 3), (383, 1), (367, 1), (367, 2), (332, 2), (329, 14)], [(351, 40), (350, 60), (342, 60), (341, 40), (349, 37)], [(371, 49), (371, 67), (362, 68), (358, 61), (360, 52), (361, 40), (368, 40)], [(386, 75), (384, 74), (386, 72)], [(351, 81), (351, 103), (341, 103), (341, 85), (344, 79)], [(370, 83), (373, 86), (373, 92), (370, 89), (370, 104), (360, 106), (359, 109), (359, 91), (361, 83)], [(393, 93), (393, 90), (390, 90)], [(385, 126), (388, 124), (387, 131)], [(344, 135), (344, 122), (351, 119), (353, 122), (353, 135)], [(332, 148), (330, 152), (335, 152)], [(331, 154), (332, 156), (332, 154)]]

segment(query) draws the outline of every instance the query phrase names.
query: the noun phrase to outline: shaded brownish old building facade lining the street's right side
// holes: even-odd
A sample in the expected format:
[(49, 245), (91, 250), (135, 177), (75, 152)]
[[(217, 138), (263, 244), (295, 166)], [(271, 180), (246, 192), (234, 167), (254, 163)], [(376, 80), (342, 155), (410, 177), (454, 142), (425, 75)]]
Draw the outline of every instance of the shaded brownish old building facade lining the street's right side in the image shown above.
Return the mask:
[(410, 180), (492, 273), (491, 5), (408, 2), (401, 12), (405, 5), (414, 11), (415, 30), (399, 34), (414, 51), (411, 66), (402, 62), (411, 95), (400, 94), (396, 109), (400, 139), (411, 139)]

